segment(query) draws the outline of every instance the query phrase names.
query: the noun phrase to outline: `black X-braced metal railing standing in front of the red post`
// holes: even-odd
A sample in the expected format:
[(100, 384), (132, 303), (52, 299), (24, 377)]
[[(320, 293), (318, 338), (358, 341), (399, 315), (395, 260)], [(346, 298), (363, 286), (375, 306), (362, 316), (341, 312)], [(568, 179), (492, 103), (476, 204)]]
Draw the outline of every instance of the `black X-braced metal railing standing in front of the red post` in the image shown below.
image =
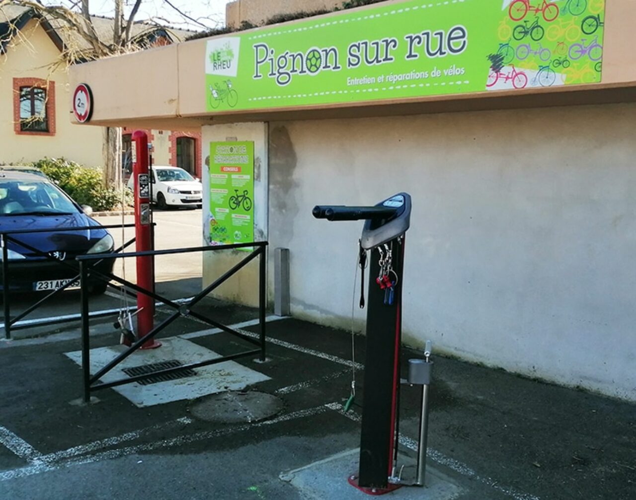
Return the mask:
[[(119, 379), (112, 382), (100, 382), (100, 378), (106, 375), (108, 372), (113, 370), (114, 367), (119, 365), (123, 360), (128, 358), (128, 356), (132, 355), (137, 349), (141, 348), (146, 342), (154, 339), (157, 334), (159, 334), (162, 330), (168, 327), (172, 322), (177, 320), (180, 317), (188, 317), (191, 316), (207, 325), (211, 325), (212, 327), (219, 328), (223, 332), (228, 334), (235, 335), (240, 339), (243, 339), (245, 342), (249, 344), (258, 346), (258, 349), (251, 349), (248, 351), (242, 351), (240, 353), (236, 353), (229, 356), (222, 356), (220, 358), (214, 358), (211, 360), (200, 361), (199, 363), (191, 363), (190, 365), (181, 365), (174, 368), (165, 368), (164, 370), (153, 372), (152, 377), (158, 377), (160, 375), (170, 374), (172, 372), (187, 370), (188, 368), (199, 368), (205, 367), (207, 365), (213, 365), (216, 363), (223, 363), (224, 361), (235, 360), (237, 358), (242, 358), (244, 356), (254, 356), (259, 355), (259, 359), (261, 361), (265, 361), (265, 311), (266, 311), (266, 248), (267, 241), (255, 241), (252, 243), (241, 243), (237, 245), (219, 245), (217, 247), (193, 247), (193, 248), (179, 248), (177, 250), (149, 250), (147, 252), (131, 252), (131, 253), (120, 253), (116, 255), (116, 259), (126, 259), (128, 257), (156, 257), (157, 255), (177, 255), (183, 253), (195, 253), (195, 252), (218, 252), (219, 250), (232, 250), (239, 248), (255, 248), (249, 255), (247, 255), (244, 259), (240, 260), (237, 264), (235, 264), (231, 269), (226, 271), (226, 273), (222, 274), (214, 280), (213, 283), (205, 287), (201, 292), (192, 297), (188, 302), (177, 304), (177, 302), (170, 301), (163, 297), (162, 295), (156, 294), (153, 290), (147, 290), (146, 288), (142, 288), (135, 283), (127, 281), (120, 276), (116, 276), (113, 273), (106, 273), (104, 271), (99, 271), (95, 269), (95, 264), (93, 262), (99, 261), (99, 259), (104, 259), (106, 255), (104, 254), (95, 254), (95, 255), (79, 255), (76, 257), (76, 260), (79, 262), (79, 275), (80, 275), (80, 287), (81, 287), (81, 337), (82, 337), (82, 348), (81, 348), (81, 363), (82, 363), (82, 373), (83, 373), (83, 396), (85, 402), (90, 402), (90, 393), (93, 391), (98, 391), (100, 389), (112, 388), (115, 386), (121, 386), (124, 384), (130, 384), (132, 382), (137, 382), (141, 379), (147, 379), (149, 375), (137, 375), (135, 377), (127, 377), (126, 379)], [(241, 332), (227, 327), (219, 323), (218, 321), (212, 320), (211, 318), (207, 318), (203, 314), (197, 313), (197, 311), (193, 311), (192, 307), (197, 305), (198, 302), (202, 301), (204, 297), (210, 294), (213, 290), (218, 288), (221, 284), (225, 283), (229, 278), (231, 278), (234, 274), (238, 273), (240, 269), (245, 267), (249, 262), (254, 260), (256, 257), (259, 257), (259, 299), (258, 299), (258, 316), (259, 316), (259, 338), (253, 339), (247, 335), (242, 334)], [(94, 375), (90, 374), (90, 323), (89, 320), (90, 310), (88, 304), (88, 280), (95, 278), (99, 278), (100, 280), (114, 281), (116, 283), (120, 283), (122, 287), (126, 287), (130, 290), (134, 290), (137, 294), (147, 295), (152, 299), (155, 299), (156, 302), (160, 302), (161, 304), (174, 309), (174, 312), (170, 314), (168, 318), (163, 320), (159, 325), (154, 327), (148, 334), (143, 337), (137, 339), (131, 346), (128, 347), (125, 351), (120, 353), (120, 355), (116, 356), (113, 360), (106, 364), (106, 366), (100, 368), (95, 372)]]

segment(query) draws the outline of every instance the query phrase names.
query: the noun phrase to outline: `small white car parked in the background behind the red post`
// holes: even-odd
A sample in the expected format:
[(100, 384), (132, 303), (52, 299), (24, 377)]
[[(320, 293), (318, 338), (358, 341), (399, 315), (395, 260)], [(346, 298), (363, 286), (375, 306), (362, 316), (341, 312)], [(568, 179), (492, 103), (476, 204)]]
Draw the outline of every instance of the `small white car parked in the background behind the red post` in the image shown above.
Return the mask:
[[(160, 207), (202, 205), (201, 181), (177, 166), (153, 166), (151, 179), (153, 201)], [(128, 179), (128, 189), (134, 190), (134, 176)]]

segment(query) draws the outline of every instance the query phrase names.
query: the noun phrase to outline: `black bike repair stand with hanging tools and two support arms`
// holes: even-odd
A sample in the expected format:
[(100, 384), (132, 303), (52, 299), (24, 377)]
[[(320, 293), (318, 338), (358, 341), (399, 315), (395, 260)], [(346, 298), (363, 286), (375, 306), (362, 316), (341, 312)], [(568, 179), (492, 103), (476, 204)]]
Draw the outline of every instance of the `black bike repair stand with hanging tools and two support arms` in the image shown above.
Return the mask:
[(399, 487), (389, 478), (397, 456), (404, 234), (410, 226), (411, 196), (398, 193), (375, 206), (316, 206), (313, 213), (317, 219), (366, 221), (360, 245), (371, 251), (371, 279), (360, 464), (349, 482), (366, 493), (389, 492)]

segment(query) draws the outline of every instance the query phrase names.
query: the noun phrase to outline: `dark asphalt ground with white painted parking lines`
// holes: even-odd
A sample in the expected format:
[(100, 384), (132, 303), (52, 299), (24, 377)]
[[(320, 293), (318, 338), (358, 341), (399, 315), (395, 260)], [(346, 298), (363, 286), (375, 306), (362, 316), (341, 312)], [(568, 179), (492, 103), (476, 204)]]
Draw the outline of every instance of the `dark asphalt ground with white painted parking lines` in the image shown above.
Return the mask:
[[(237, 311), (210, 311), (228, 323), (249, 312), (232, 320)], [(221, 354), (244, 347), (204, 329), (180, 320), (165, 336)], [(246, 389), (278, 396), (282, 410), (243, 424), (198, 419), (190, 411), (196, 402), (187, 400), (138, 408), (113, 389), (95, 393), (99, 403), (73, 405), (81, 370), (66, 353), (79, 349), (77, 335), (0, 342), (0, 499), (357, 497), (346, 480), (355, 472), (350, 450), (359, 444), (361, 408), (342, 410), (350, 336), (293, 319), (271, 321), (268, 335), (267, 363), (238, 362), (265, 375)], [(100, 348), (116, 338), (96, 335), (92, 342)], [(356, 360), (363, 360), (363, 337), (356, 348)], [(403, 368), (413, 355), (403, 349)], [(390, 497), (636, 497), (636, 405), (440, 356), (435, 361), (430, 488)], [(401, 451), (412, 463), (418, 389), (403, 388), (401, 403)], [(434, 491), (443, 495), (427, 496)]]

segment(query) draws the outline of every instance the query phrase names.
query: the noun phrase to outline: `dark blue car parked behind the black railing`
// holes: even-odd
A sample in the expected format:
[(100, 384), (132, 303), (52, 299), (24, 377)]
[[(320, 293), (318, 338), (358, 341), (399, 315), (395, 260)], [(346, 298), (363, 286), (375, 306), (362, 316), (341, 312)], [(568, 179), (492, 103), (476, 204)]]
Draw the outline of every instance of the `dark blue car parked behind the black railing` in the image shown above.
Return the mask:
[[(91, 229), (60, 231), (73, 227)], [(46, 231), (11, 234), (11, 231), (24, 229)], [(39, 255), (17, 241), (9, 241), (8, 287), (17, 292), (57, 290), (78, 275), (75, 257), (109, 253), (114, 248), (113, 236), (99, 222), (88, 217), (81, 206), (50, 180), (32, 173), (0, 172), (0, 233), (8, 233), (13, 240), (55, 259)], [(56, 260), (66, 261), (74, 269)], [(95, 269), (110, 273), (113, 264), (114, 259), (104, 259)], [(1, 278), (0, 267), (0, 290), (3, 289)], [(103, 294), (106, 287), (106, 281), (95, 279), (89, 282), (88, 289), (92, 294)]]

